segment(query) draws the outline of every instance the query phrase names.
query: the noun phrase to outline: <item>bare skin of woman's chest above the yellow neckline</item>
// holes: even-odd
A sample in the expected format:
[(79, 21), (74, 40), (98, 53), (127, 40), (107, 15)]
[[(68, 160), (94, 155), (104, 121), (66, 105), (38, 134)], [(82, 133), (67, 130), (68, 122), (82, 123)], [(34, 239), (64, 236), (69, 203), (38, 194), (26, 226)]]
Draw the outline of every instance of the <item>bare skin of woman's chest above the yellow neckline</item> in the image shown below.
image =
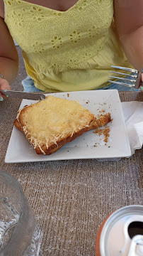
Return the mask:
[(38, 4), (56, 11), (67, 11), (80, 0), (25, 0), (32, 4)]

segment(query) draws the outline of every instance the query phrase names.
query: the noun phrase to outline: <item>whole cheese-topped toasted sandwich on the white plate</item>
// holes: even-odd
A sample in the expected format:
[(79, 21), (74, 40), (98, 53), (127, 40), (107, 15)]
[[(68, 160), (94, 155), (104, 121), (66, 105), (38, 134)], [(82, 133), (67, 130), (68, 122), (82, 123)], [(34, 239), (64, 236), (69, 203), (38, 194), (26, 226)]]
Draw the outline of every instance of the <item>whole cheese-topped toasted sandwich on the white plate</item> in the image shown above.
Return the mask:
[(110, 122), (110, 114), (96, 119), (73, 100), (47, 96), (18, 111), (15, 126), (25, 134), (37, 154), (52, 154), (67, 142)]

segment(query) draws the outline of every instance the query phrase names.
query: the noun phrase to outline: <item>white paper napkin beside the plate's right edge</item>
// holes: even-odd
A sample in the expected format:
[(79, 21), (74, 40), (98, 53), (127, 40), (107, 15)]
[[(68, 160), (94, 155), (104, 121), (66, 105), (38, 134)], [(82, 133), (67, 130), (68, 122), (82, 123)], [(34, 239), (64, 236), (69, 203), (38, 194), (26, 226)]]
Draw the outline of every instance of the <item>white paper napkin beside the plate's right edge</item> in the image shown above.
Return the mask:
[(143, 144), (143, 102), (122, 102), (122, 111), (130, 141), (131, 153), (142, 149)]

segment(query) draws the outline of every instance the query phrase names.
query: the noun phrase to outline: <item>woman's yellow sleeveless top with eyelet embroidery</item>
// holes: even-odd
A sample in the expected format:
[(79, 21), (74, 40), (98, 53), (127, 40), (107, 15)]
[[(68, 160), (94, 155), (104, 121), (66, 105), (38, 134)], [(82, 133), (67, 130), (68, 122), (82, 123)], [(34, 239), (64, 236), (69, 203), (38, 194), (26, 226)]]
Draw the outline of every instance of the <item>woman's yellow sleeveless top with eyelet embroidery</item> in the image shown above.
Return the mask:
[(79, 0), (67, 11), (4, 2), (6, 25), (38, 89), (95, 90), (108, 85), (111, 65), (131, 66), (115, 33), (113, 0)]

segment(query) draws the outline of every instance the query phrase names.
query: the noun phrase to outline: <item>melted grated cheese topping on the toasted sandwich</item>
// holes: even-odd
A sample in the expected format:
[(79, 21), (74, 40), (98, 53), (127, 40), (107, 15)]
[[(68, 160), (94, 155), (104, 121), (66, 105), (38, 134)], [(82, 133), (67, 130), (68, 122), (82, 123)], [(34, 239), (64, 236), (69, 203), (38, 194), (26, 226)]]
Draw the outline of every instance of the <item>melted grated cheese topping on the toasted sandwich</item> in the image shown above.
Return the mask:
[[(22, 111), (22, 110), (21, 110)], [(48, 149), (51, 144), (73, 136), (74, 132), (88, 127), (94, 115), (78, 102), (47, 96), (45, 100), (26, 107), (22, 114), (23, 132), (34, 147), (41, 149), (44, 143)]]

